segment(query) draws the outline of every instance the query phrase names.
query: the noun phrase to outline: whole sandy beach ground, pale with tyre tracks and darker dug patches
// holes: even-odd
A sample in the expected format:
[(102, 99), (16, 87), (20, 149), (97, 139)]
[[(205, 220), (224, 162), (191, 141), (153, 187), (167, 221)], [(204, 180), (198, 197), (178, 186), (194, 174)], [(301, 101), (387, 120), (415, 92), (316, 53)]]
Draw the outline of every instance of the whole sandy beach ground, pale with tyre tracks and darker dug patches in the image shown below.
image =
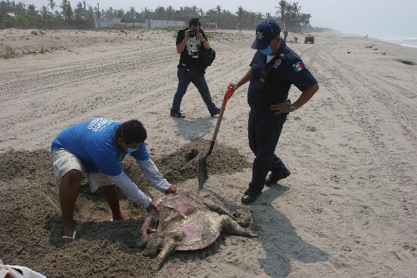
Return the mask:
[[(174, 33), (44, 32), (0, 30), (0, 52), (6, 45), (18, 54), (50, 51), (0, 60), (3, 262), (48, 277), (415, 276), (417, 66), (402, 61), (417, 63), (417, 49), (335, 33), (315, 34), (315, 44), (290, 43), (320, 84), (316, 96), (288, 116), (279, 140), (276, 153), (291, 176), (265, 188), (254, 204), (240, 204), (253, 159), (245, 85), (228, 103), (220, 153), (211, 158), (215, 170), (200, 193), (251, 211), (259, 238), (223, 235), (207, 250), (177, 252), (152, 273), (152, 260), (135, 247), (147, 213), (123, 199), (131, 219), (109, 222), (103, 197), (88, 186), (76, 204), (83, 233), (62, 246), (47, 148), (61, 129), (81, 120), (137, 118), (161, 172), (177, 187), (196, 190), (186, 150), (204, 145), (194, 140), (210, 139), (217, 119), (193, 87), (181, 106), (186, 119), (169, 117), (179, 59)], [(206, 79), (220, 104), (227, 84), (248, 69), (253, 34), (213, 35), (217, 58)], [(292, 88), (290, 98), (298, 95)], [(143, 190), (157, 195), (130, 170)]]

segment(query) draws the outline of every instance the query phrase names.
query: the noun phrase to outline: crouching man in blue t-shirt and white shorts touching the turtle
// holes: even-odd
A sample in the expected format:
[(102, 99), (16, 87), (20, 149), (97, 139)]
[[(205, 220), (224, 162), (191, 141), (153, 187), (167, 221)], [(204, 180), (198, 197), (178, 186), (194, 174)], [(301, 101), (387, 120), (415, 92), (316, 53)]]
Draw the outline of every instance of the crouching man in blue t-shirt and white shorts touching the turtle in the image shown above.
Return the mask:
[(63, 238), (75, 239), (74, 206), (79, 183), (87, 177), (92, 192), (103, 188), (113, 220), (126, 219), (120, 212), (116, 188), (148, 211), (156, 210), (152, 199), (139, 190), (123, 172), (120, 162), (131, 154), (149, 181), (165, 193), (177, 193), (149, 157), (145, 127), (138, 120), (121, 123), (110, 119), (87, 120), (61, 131), (51, 144), (54, 172), (60, 180), (59, 198), (63, 213)]

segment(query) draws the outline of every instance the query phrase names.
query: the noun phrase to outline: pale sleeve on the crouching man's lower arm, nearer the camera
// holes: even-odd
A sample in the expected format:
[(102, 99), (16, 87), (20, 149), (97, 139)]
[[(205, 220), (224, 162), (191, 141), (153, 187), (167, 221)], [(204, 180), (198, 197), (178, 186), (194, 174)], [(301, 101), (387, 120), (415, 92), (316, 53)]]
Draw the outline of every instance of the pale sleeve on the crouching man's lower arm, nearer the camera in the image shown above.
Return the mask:
[(138, 186), (136, 186), (136, 184), (133, 183), (133, 181), (131, 181), (131, 179), (127, 177), (127, 174), (124, 172), (115, 177), (108, 175), (106, 175), (106, 177), (108, 177), (112, 183), (120, 188), (120, 190), (122, 190), (133, 203), (138, 206), (142, 206), (143, 208), (147, 208), (149, 204), (151, 204), (152, 199), (140, 191)]

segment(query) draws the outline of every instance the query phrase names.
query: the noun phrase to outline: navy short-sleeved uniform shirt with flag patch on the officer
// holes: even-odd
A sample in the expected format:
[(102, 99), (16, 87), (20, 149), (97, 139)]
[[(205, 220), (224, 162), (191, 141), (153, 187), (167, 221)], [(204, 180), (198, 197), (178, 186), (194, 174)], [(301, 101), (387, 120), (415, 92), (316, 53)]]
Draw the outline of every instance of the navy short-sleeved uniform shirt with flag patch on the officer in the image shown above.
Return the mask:
[(268, 80), (264, 89), (259, 90), (259, 77), (261, 71), (267, 65), (267, 56), (262, 54), (261, 51), (256, 51), (250, 63), (252, 75), (250, 76), (247, 93), (247, 102), (251, 106), (263, 107), (284, 102), (288, 98), (291, 85), (295, 85), (298, 89), (304, 91), (317, 83), (314, 76), (306, 69), (300, 56), (287, 47), (284, 41), (282, 41), (277, 56), (275, 61), (272, 60), (272, 63), (268, 64), (268, 67), (270, 67)]

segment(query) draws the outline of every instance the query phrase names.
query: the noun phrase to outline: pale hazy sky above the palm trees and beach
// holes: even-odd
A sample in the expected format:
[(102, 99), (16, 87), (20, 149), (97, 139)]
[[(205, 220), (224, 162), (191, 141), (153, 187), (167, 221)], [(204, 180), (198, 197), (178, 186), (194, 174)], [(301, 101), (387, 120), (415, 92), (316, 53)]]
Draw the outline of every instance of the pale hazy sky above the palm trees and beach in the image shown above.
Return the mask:
[[(47, 5), (47, 0), (25, 0), (34, 3), (38, 8)], [(77, 0), (70, 0), (76, 4)], [(97, 1), (86, 1), (91, 6), (97, 6)], [(60, 0), (56, 0), (60, 3)], [(124, 8), (134, 6), (140, 11), (142, 8), (151, 9), (157, 6), (197, 6), (207, 10), (218, 4), (223, 9), (235, 12), (238, 6), (245, 10), (261, 13), (275, 13), (279, 0), (247, 1), (190, 1), (190, 0), (101, 0), (100, 8)], [(417, 1), (416, 0), (298, 0), (302, 13), (311, 14), (311, 25), (334, 28), (343, 33), (358, 35), (404, 35), (417, 37)]]

